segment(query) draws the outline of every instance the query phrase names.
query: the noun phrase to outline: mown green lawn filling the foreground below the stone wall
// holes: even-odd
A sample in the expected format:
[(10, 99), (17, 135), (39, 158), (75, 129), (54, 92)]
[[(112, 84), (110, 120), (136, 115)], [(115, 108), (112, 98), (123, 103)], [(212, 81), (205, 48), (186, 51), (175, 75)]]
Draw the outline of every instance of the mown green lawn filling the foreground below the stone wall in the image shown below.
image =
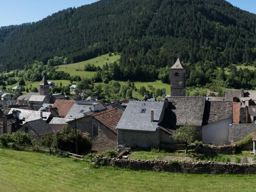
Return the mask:
[(1, 192), (254, 191), (255, 176), (193, 175), (94, 168), (48, 154), (0, 149)]

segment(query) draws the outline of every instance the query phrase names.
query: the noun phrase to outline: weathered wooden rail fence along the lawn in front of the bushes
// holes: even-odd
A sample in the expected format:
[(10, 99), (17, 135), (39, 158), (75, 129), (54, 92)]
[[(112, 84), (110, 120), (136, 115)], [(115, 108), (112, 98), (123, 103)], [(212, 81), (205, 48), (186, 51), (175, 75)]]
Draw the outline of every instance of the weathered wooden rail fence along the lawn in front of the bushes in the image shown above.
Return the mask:
[(40, 153), (49, 153), (49, 154), (54, 154), (54, 155), (58, 154), (58, 153), (66, 153), (68, 155), (68, 157), (70, 157), (70, 158), (92, 162), (91, 157), (84, 156), (84, 155), (73, 154), (73, 153), (70, 153), (68, 151), (56, 150), (56, 149), (45, 148), (45, 147), (40, 147), (40, 146), (33, 146), (33, 145), (27, 145), (27, 144), (19, 144), (19, 143), (12, 143), (11, 145), (9, 145), (9, 147), (12, 147), (14, 149), (36, 151), (36, 152), (40, 152)]

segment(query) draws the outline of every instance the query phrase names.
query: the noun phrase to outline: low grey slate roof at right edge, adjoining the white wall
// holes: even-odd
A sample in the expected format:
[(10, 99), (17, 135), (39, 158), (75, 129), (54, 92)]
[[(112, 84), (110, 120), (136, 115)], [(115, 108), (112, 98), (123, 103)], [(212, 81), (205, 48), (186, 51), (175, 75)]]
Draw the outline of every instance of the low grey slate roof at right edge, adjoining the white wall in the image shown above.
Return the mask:
[(252, 132), (256, 132), (256, 124), (231, 124), (229, 126), (229, 141), (239, 141)]

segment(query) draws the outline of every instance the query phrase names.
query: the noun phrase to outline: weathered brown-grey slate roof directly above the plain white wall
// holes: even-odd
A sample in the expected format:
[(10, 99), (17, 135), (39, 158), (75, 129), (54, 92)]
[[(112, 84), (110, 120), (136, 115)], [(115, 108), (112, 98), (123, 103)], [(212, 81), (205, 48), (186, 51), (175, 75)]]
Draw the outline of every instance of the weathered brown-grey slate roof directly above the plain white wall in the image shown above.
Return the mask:
[(210, 124), (231, 117), (232, 101), (206, 101), (203, 120), (204, 124)]

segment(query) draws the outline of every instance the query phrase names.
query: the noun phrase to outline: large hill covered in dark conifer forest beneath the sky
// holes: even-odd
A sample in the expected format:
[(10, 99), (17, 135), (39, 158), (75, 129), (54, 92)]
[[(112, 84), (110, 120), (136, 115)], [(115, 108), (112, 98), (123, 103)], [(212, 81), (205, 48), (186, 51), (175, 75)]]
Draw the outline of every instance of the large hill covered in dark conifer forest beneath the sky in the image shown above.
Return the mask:
[(175, 62), (253, 63), (256, 15), (224, 0), (100, 0), (0, 28), (1, 70), (54, 56), (78, 62), (121, 52), (124, 74)]

